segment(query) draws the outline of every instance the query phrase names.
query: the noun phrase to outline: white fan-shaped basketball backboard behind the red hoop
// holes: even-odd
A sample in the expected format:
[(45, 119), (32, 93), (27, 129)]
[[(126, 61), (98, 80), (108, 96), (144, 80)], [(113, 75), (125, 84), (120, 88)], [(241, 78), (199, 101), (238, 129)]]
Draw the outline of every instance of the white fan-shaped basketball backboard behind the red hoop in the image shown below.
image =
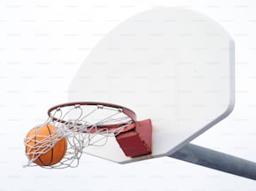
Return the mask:
[(126, 157), (115, 138), (85, 152), (116, 163), (170, 155), (234, 106), (234, 43), (201, 13), (154, 8), (120, 23), (85, 58), (69, 101), (115, 103), (151, 118), (152, 153)]

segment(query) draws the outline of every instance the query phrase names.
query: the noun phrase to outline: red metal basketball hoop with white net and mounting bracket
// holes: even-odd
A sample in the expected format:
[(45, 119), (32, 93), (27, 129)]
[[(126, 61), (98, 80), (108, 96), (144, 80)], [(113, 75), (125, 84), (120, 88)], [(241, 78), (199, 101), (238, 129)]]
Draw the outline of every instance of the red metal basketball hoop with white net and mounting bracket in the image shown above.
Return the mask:
[[(51, 155), (53, 155), (56, 143), (64, 138), (68, 143), (64, 157), (58, 163), (49, 163), (49, 165), (44, 165), (41, 160), (43, 164), (40, 162), (42, 164), (40, 166), (44, 168), (77, 167), (87, 147), (103, 147), (110, 137), (116, 138), (126, 156), (136, 157), (151, 153), (151, 141), (148, 141), (148, 138), (144, 140), (145, 133), (140, 137), (141, 128), (144, 130), (147, 128), (146, 132), (151, 137), (150, 120), (137, 122), (136, 113), (129, 108), (110, 103), (64, 103), (49, 108), (48, 115), (47, 122), (37, 127), (33, 136), (27, 136), (24, 140), (28, 156), (26, 166), (38, 164), (38, 158), (41, 160), (42, 156), (44, 157), (51, 149)], [(50, 133), (46, 135), (38, 133), (45, 125), (48, 128), (52, 127), (49, 130)], [(133, 150), (125, 148), (127, 141), (133, 140), (133, 138), (129, 139), (130, 135), (125, 135), (126, 132), (134, 132), (137, 138), (141, 139), (141, 145), (136, 145), (138, 148)], [(121, 137), (119, 137), (120, 134)]]

